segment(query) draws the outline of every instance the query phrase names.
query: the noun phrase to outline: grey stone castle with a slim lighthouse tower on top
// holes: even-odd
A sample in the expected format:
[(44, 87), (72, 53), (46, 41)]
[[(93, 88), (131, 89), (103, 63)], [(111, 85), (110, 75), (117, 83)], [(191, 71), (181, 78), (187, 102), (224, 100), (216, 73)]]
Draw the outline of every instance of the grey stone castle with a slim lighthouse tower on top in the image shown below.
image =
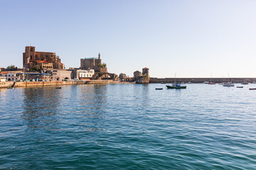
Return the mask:
[(107, 72), (107, 67), (103, 66), (100, 53), (97, 58), (85, 58), (80, 60), (80, 69), (94, 69), (95, 72)]

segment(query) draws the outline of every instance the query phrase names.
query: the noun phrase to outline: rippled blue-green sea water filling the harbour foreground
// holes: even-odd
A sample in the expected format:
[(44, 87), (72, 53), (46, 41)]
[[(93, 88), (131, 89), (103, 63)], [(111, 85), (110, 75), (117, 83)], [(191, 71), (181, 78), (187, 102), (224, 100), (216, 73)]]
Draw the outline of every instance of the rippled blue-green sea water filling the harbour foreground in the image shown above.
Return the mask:
[(0, 169), (256, 169), (256, 91), (0, 89)]

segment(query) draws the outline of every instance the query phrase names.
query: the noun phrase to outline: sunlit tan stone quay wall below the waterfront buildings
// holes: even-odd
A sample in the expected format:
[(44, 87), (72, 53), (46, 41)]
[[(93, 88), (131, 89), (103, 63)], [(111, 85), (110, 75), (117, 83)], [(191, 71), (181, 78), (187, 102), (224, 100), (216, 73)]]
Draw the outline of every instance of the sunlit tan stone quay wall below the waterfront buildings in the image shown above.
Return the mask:
[(92, 80), (92, 81), (8, 81), (1, 82), (0, 88), (7, 88), (14, 84), (14, 87), (26, 86), (62, 86), (62, 85), (76, 85), (76, 84), (118, 84), (120, 81), (112, 80)]

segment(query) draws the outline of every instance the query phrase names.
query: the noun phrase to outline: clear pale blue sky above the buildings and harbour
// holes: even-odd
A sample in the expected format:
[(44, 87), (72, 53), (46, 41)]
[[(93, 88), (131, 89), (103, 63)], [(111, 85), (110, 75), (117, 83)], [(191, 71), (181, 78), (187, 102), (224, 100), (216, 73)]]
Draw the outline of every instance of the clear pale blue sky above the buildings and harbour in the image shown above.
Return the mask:
[(100, 52), (130, 77), (256, 77), (255, 18), (255, 0), (0, 0), (0, 67), (33, 45), (66, 68)]

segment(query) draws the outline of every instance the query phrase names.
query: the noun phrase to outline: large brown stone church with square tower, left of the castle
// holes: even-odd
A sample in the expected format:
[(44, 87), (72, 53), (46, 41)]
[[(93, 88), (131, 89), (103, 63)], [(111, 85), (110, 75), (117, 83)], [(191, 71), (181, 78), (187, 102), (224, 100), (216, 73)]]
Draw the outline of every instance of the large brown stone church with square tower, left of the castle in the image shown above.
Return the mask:
[(28, 70), (36, 65), (41, 69), (65, 69), (60, 57), (54, 52), (36, 52), (36, 47), (26, 46), (23, 52), (23, 67)]

